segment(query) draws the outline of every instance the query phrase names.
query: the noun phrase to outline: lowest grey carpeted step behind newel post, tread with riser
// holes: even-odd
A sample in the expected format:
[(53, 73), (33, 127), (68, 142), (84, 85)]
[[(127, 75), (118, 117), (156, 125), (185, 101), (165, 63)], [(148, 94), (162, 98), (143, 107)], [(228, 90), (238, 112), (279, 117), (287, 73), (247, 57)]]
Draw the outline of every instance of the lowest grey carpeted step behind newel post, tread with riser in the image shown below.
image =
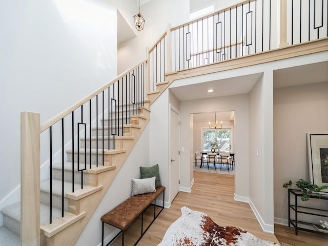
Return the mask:
[[(4, 227), (20, 235), (20, 202), (9, 204), (1, 210), (4, 217)], [(61, 210), (52, 208), (52, 218), (60, 217)], [(40, 224), (49, 223), (49, 206), (40, 204)], [(0, 237), (1, 238), (1, 237)]]

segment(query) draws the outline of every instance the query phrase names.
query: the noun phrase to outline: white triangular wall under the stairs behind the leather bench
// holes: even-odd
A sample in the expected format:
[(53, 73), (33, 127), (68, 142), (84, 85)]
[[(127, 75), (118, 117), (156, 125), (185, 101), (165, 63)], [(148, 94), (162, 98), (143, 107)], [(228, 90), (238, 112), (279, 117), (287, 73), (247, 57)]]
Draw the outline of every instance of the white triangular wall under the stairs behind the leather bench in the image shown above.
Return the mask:
[[(149, 129), (150, 126), (148, 124), (74, 245), (101, 245), (100, 217), (131, 196), (131, 179), (140, 178), (140, 166), (150, 166)], [(161, 174), (160, 170), (160, 175)], [(105, 226), (104, 238), (107, 238), (108, 235), (111, 234), (111, 236), (105, 240), (105, 243), (108, 243), (110, 239), (113, 238), (115, 232), (117, 233), (112, 227)]]

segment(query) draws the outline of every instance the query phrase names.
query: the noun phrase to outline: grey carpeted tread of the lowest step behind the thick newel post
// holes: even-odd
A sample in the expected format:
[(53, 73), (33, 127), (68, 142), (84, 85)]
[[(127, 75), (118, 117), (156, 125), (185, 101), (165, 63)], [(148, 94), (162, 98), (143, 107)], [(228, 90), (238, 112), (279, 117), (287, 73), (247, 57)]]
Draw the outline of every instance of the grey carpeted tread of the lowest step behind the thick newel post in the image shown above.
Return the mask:
[[(6, 216), (20, 221), (20, 201), (9, 204), (8, 206), (4, 207), (1, 212)], [(52, 218), (60, 217), (61, 210), (52, 208)], [(40, 203), (40, 224), (44, 224), (49, 222), (49, 205)], [(0, 237), (1, 238), (1, 237)]]

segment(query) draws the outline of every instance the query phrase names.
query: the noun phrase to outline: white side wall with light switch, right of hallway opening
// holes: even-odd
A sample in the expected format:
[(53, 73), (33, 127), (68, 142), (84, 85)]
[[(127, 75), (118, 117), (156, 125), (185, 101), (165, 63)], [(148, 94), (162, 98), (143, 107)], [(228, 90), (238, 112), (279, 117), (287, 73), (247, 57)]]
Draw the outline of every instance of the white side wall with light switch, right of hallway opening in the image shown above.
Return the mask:
[[(273, 72), (265, 71), (250, 92), (250, 204), (264, 231), (273, 232)], [(270, 122), (271, 118), (271, 122)]]

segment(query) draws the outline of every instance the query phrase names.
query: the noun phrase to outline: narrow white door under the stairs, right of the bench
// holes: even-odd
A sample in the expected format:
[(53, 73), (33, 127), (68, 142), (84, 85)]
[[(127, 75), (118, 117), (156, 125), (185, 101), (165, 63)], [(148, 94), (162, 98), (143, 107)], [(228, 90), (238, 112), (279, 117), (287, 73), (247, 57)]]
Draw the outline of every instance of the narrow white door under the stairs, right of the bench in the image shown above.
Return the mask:
[(170, 105), (170, 201), (180, 190), (179, 161), (179, 111)]

